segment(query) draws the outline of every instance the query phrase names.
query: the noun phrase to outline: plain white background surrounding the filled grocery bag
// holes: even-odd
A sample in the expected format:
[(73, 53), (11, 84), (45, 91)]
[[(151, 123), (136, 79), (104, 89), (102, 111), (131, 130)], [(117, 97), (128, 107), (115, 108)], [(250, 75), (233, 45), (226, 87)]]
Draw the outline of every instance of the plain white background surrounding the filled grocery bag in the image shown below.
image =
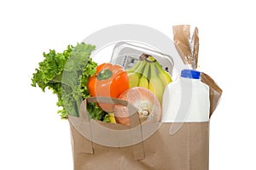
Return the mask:
[[(0, 169), (73, 169), (68, 123), (56, 97), (32, 88), (43, 52), (61, 52), (107, 26), (140, 24), (172, 37), (200, 32), (199, 65), (224, 94), (211, 119), (210, 169), (255, 169), (253, 1), (1, 1)], [(106, 57), (106, 56), (102, 56)]]

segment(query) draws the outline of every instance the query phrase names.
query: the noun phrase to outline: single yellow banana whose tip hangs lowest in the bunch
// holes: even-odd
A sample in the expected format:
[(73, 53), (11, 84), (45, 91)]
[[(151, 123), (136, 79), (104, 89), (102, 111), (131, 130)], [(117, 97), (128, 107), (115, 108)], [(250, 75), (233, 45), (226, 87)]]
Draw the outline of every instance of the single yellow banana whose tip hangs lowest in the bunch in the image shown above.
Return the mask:
[(156, 75), (154, 63), (150, 63), (149, 90), (154, 93), (157, 99), (159, 99), (160, 104), (162, 104), (162, 97), (163, 97), (165, 88), (160, 78), (157, 77)]

